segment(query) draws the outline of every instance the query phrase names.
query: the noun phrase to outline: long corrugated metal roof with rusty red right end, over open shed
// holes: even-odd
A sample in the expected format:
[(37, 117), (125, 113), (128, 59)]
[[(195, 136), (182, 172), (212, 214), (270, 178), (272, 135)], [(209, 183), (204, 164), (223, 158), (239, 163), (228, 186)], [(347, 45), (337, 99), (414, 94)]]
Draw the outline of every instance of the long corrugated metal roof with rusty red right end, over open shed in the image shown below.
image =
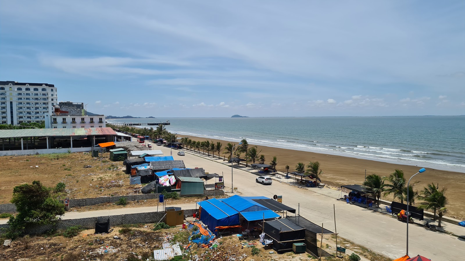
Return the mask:
[(65, 128), (65, 129), (24, 129), (0, 130), (0, 138), (116, 135), (112, 128)]

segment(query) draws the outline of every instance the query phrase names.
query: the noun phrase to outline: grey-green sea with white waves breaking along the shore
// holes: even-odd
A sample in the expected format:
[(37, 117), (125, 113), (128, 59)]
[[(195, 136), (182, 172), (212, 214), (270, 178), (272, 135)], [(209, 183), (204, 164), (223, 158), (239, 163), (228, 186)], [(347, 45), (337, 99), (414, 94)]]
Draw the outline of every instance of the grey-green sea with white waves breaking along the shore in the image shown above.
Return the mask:
[(312, 151), (465, 173), (465, 116), (107, 119), (166, 122), (178, 137)]

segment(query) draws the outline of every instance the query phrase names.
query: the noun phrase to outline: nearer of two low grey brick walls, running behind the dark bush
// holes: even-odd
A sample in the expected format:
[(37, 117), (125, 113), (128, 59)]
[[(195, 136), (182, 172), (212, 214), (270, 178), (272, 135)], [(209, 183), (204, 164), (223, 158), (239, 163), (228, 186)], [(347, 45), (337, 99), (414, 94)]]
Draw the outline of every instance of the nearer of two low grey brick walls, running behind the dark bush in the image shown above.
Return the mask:
[[(184, 215), (192, 216), (197, 209), (185, 209)], [(41, 225), (34, 228), (31, 228), (26, 231), (29, 235), (34, 234), (43, 234), (50, 230), (60, 230), (66, 229), (71, 226), (80, 225), (83, 228), (95, 228), (95, 222), (105, 222), (110, 218), (110, 227), (115, 227), (118, 225), (124, 224), (137, 224), (137, 223), (156, 223), (165, 215), (165, 212), (146, 212), (146, 213), (133, 213), (133, 214), (124, 214), (124, 215), (109, 215), (109, 216), (99, 216), (99, 217), (87, 217), (87, 218), (78, 218), (78, 219), (65, 219), (56, 222), (51, 225)], [(164, 222), (163, 218), (161, 222)], [(0, 225), (1, 228), (8, 228), (8, 224)]]

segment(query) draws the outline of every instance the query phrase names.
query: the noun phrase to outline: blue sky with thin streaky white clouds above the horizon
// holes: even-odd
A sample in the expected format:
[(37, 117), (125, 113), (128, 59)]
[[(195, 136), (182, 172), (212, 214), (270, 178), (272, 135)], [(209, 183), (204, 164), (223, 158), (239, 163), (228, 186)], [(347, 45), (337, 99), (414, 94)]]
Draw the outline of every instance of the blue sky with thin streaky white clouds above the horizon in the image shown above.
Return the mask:
[(0, 80), (138, 117), (465, 114), (465, 1), (0, 0)]

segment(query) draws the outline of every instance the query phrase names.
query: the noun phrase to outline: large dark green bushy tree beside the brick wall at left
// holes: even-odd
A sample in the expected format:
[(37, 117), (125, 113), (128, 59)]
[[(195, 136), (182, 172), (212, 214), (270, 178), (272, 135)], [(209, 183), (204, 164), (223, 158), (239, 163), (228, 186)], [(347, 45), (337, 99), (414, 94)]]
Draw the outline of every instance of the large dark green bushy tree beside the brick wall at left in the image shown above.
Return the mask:
[(34, 225), (51, 224), (65, 214), (65, 205), (52, 194), (53, 189), (43, 186), (40, 181), (23, 183), (13, 188), (11, 202), (18, 214), (10, 217), (8, 224), (16, 233)]

